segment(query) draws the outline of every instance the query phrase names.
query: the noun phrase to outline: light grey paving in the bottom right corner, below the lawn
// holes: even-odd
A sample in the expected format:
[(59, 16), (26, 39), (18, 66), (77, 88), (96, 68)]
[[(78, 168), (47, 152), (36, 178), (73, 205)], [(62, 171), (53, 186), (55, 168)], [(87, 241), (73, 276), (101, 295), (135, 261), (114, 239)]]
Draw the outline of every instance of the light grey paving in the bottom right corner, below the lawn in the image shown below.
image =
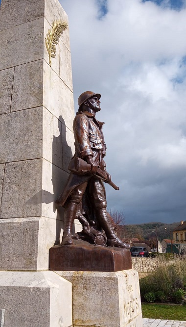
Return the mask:
[(186, 327), (186, 321), (143, 318), (143, 327)]

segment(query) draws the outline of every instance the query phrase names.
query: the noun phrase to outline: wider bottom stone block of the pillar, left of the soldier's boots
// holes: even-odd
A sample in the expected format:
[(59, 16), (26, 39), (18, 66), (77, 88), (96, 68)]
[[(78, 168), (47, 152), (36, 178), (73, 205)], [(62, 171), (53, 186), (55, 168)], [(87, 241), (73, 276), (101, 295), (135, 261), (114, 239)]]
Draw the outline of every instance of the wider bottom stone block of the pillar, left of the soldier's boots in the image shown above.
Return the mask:
[(0, 270), (47, 270), (55, 237), (55, 219), (0, 219)]

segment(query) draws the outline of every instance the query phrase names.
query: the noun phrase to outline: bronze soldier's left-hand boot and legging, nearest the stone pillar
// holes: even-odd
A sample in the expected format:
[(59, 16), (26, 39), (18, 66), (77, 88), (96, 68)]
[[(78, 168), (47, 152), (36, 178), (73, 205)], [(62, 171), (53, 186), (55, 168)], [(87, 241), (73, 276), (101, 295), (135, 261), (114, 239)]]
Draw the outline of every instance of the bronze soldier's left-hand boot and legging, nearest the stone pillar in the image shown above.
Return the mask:
[(71, 245), (73, 244), (72, 238), (72, 225), (75, 219), (77, 210), (77, 204), (69, 202), (65, 208), (64, 213), (64, 231), (61, 245)]

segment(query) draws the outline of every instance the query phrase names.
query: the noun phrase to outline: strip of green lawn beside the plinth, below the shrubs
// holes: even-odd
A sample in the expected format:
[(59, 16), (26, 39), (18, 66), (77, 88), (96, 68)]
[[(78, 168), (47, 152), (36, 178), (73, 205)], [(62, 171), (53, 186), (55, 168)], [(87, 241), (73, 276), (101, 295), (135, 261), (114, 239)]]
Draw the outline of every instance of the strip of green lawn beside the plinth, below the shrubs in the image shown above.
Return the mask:
[(141, 308), (143, 318), (186, 321), (186, 303), (183, 306), (141, 303)]

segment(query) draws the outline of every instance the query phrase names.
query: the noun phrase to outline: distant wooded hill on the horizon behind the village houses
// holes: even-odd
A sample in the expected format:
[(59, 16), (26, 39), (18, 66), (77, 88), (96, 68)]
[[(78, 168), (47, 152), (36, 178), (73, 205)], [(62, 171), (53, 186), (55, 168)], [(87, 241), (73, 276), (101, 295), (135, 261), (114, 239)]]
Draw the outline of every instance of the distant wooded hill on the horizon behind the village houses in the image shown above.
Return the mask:
[[(160, 241), (170, 238), (170, 230), (173, 230), (175, 227), (180, 225), (180, 221), (172, 224), (164, 224), (160, 222), (152, 222), (146, 224), (135, 224), (135, 225), (125, 225), (118, 226), (117, 234), (120, 238), (126, 239), (129, 237), (137, 237), (139, 240), (149, 240), (155, 237), (155, 233), (152, 230), (156, 231), (157, 226), (157, 235)], [(165, 228), (166, 227), (166, 231)]]

